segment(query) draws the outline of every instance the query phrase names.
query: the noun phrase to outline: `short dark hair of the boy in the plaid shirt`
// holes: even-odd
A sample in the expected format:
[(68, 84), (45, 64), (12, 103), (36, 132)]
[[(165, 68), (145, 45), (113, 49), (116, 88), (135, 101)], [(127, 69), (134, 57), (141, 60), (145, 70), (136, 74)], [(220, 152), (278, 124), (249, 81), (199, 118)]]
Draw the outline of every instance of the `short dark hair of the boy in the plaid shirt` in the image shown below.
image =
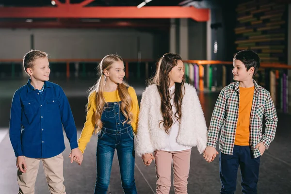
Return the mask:
[(259, 69), (260, 59), (259, 55), (252, 50), (241, 50), (236, 53), (233, 57), (233, 60), (240, 60), (245, 68), (249, 70), (252, 66), (255, 68), (254, 75)]

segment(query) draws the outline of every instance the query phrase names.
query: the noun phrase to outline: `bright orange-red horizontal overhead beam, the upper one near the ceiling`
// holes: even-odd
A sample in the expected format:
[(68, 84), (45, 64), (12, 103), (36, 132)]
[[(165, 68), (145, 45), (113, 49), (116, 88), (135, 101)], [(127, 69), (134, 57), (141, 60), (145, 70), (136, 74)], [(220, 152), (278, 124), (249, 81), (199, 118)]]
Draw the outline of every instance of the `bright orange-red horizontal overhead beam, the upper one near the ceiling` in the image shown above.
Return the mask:
[(192, 18), (199, 22), (209, 19), (209, 9), (195, 7), (83, 7), (88, 2), (92, 0), (55, 7), (0, 7), (0, 18)]

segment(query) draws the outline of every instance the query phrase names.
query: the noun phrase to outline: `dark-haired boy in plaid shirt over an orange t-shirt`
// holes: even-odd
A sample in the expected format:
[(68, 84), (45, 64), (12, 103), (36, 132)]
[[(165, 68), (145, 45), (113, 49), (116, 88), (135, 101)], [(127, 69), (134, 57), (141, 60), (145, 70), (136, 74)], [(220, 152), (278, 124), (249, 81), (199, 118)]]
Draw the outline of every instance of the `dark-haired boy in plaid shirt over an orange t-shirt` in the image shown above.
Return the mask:
[[(242, 193), (257, 194), (260, 156), (275, 138), (277, 115), (270, 93), (253, 80), (259, 69), (257, 53), (242, 50), (233, 58), (233, 80), (220, 93), (212, 113), (204, 158), (216, 157), (218, 133), (221, 194), (234, 194), (241, 166)], [(262, 134), (263, 115), (266, 129)], [(212, 159), (213, 158), (213, 159)]]

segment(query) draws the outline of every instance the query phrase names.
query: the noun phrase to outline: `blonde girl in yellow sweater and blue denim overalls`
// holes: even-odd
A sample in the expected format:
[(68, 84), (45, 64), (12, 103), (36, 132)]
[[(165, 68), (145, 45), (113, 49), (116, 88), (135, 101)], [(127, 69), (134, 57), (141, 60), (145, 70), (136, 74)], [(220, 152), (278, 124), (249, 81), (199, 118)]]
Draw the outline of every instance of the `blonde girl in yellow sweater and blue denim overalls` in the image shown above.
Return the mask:
[(82, 153), (93, 133), (98, 135), (97, 179), (94, 194), (106, 194), (115, 149), (125, 194), (136, 194), (134, 133), (139, 112), (135, 91), (123, 81), (123, 60), (111, 54), (98, 65), (100, 77), (90, 89), (87, 117), (79, 139)]

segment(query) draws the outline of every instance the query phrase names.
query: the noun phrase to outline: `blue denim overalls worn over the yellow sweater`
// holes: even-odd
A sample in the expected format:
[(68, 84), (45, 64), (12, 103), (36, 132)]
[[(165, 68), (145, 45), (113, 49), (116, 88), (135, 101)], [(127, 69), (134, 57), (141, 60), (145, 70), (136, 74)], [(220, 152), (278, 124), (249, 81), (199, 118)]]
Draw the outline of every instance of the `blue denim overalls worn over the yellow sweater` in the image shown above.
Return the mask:
[(115, 149), (125, 194), (137, 194), (134, 180), (134, 136), (130, 124), (122, 124), (125, 116), (121, 101), (108, 102), (101, 115), (103, 127), (98, 133), (97, 179), (94, 194), (106, 194)]

